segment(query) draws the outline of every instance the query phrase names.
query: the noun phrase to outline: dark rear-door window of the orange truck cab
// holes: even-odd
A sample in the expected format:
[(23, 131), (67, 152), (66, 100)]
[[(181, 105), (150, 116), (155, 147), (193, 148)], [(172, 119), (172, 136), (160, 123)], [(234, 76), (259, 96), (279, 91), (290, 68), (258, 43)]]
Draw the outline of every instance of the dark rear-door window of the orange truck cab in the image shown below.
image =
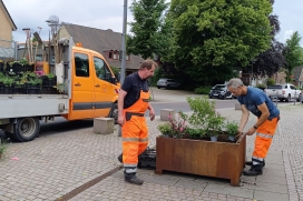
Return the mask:
[(84, 53), (75, 53), (75, 72), (76, 77), (89, 77), (88, 56)]

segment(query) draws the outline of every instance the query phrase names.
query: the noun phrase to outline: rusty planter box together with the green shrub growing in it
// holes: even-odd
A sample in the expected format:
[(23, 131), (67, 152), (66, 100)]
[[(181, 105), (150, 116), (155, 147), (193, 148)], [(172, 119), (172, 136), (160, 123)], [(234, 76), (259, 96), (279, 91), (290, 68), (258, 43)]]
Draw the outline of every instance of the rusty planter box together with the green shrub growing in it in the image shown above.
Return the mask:
[[(187, 102), (193, 114), (179, 115), (182, 132), (175, 134), (175, 138), (168, 134), (168, 138), (156, 139), (156, 173), (162, 174), (168, 170), (225, 178), (231, 180), (232, 185), (240, 185), (245, 165), (246, 138), (240, 143), (227, 140), (227, 133), (223, 131), (224, 118), (215, 111), (214, 101), (188, 98)], [(209, 141), (209, 135), (214, 135), (212, 133), (218, 135), (218, 142)]]

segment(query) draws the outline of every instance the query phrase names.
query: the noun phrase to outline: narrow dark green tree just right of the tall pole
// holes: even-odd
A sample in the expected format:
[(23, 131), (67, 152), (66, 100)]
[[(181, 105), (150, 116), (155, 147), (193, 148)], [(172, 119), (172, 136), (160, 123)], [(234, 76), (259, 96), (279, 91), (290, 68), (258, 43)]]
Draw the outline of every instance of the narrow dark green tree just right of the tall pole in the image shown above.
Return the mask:
[(160, 32), (164, 28), (164, 12), (168, 6), (165, 0), (133, 1), (130, 11), (134, 22), (129, 23), (131, 37), (126, 41), (127, 53), (147, 59), (163, 51), (166, 37)]

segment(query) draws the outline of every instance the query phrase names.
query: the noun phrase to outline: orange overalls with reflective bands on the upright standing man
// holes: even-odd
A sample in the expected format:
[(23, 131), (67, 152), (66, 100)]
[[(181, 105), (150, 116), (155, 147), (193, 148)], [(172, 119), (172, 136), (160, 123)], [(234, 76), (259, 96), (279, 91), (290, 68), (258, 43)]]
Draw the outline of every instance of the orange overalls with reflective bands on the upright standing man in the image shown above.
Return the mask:
[(148, 129), (144, 117), (148, 102), (149, 92), (140, 90), (139, 99), (131, 107), (124, 109), (126, 121), (123, 125), (123, 162), (126, 173), (136, 172), (138, 155), (148, 144)]

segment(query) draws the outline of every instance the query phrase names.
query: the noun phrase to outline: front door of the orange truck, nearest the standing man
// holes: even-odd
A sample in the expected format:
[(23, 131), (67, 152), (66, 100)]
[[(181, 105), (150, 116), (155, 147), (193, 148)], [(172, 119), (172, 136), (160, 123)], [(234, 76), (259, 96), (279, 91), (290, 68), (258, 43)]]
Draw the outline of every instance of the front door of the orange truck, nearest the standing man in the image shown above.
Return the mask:
[(107, 117), (118, 96), (117, 86), (113, 84), (113, 74), (106, 62), (94, 56), (94, 103), (95, 117)]

